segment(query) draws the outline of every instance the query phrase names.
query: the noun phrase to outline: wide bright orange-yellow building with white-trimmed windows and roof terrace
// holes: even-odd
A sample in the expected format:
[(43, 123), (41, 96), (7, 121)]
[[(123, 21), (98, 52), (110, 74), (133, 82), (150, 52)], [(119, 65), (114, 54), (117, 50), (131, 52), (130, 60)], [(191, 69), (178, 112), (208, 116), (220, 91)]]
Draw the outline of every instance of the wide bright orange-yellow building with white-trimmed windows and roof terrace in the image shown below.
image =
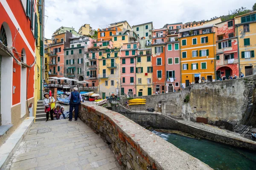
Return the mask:
[(181, 84), (198, 83), (199, 79), (215, 81), (214, 25), (180, 29)]

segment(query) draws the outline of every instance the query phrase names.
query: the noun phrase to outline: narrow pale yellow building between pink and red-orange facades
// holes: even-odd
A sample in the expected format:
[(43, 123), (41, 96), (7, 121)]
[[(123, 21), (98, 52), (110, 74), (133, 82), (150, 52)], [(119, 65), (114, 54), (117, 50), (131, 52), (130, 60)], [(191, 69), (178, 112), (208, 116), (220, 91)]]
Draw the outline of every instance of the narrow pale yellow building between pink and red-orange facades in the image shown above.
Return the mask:
[(136, 62), (136, 68), (144, 68), (143, 73), (136, 73), (136, 94), (138, 96), (152, 95), (153, 93), (153, 81), (152, 81), (152, 60), (151, 60), (151, 49), (138, 50), (138, 58), (140, 62)]

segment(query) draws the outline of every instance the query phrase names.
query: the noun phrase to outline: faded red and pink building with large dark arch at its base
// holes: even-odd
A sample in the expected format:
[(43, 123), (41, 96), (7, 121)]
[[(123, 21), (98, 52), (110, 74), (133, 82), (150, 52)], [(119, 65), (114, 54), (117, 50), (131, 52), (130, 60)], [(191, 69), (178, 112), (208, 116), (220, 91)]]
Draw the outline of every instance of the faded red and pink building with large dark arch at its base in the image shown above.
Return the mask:
[(238, 45), (234, 20), (216, 24), (216, 79), (239, 76)]

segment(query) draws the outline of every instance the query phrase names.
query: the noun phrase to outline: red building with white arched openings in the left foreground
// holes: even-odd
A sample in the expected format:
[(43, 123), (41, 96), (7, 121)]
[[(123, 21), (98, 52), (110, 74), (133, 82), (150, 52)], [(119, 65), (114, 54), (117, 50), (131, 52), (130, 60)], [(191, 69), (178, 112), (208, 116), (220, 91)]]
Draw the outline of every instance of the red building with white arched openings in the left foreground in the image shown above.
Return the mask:
[(0, 1), (0, 125), (12, 130), (34, 104), (36, 7), (36, 0)]

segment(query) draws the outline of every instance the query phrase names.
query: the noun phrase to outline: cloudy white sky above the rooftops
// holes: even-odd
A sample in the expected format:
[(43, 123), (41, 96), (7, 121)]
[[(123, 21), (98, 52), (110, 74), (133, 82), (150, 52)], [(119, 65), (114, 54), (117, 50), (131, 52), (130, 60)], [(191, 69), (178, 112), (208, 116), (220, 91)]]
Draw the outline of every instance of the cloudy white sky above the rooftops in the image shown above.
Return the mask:
[(153, 21), (166, 23), (209, 20), (241, 6), (251, 9), (255, 0), (45, 0), (45, 37), (61, 26), (78, 29), (85, 23), (93, 29), (122, 20), (130, 26)]

